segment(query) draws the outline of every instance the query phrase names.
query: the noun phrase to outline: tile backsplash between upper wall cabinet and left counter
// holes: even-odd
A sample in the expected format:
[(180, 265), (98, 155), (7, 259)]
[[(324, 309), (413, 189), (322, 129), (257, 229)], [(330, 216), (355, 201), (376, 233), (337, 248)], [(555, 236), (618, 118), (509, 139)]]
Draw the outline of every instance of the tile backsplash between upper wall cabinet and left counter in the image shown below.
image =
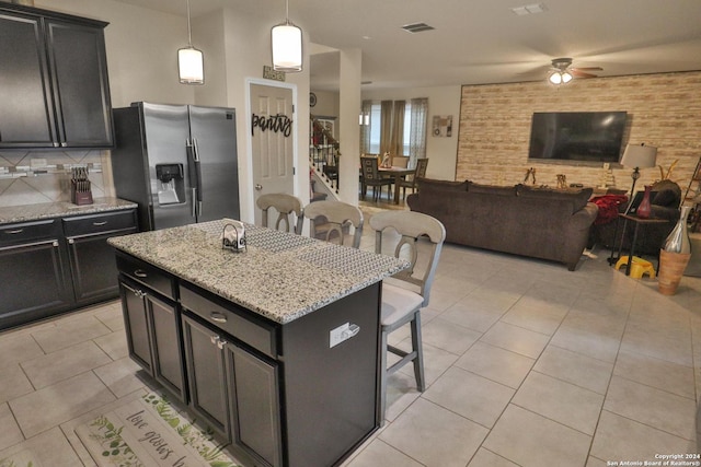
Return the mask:
[(70, 201), (70, 172), (87, 166), (93, 198), (114, 196), (110, 151), (0, 152), (0, 207)]

